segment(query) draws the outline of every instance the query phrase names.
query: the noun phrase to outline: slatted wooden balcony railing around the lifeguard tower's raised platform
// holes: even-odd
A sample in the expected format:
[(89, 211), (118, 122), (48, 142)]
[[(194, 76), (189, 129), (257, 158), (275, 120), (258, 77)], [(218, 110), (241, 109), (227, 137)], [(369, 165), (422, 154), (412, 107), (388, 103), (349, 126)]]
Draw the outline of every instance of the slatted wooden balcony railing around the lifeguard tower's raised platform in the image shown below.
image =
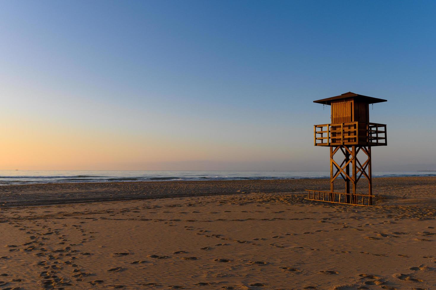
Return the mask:
[(387, 145), (385, 124), (348, 122), (313, 126), (315, 146)]

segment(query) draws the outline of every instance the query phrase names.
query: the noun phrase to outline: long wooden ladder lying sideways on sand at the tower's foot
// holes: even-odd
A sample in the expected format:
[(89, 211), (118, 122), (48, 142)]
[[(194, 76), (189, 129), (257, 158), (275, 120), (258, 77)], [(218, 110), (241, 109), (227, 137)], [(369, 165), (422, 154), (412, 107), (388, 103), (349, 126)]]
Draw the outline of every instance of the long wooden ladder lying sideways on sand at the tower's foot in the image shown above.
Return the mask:
[(372, 205), (374, 195), (352, 194), (344, 192), (330, 192), (321, 190), (306, 189), (308, 196), (305, 200), (324, 201), (329, 203), (343, 203), (351, 205), (369, 206)]

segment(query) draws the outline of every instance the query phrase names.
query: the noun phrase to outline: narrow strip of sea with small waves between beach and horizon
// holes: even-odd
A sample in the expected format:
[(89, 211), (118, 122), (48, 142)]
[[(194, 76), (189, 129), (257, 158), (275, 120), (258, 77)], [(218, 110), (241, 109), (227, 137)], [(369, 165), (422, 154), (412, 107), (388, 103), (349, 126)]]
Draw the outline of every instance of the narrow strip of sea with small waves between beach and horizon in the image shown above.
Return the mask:
[[(436, 171), (375, 171), (373, 177), (436, 176)], [(169, 180), (330, 178), (329, 171), (0, 170), (0, 185)]]

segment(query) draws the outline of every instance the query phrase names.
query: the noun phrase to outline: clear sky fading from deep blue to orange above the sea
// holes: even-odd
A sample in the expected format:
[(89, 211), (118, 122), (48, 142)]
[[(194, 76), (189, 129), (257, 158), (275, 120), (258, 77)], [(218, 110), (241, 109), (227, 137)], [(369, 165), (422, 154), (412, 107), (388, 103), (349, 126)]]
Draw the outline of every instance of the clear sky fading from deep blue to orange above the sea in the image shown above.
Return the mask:
[(436, 170), (435, 1), (0, 1), (0, 169), (329, 170), (313, 125), (388, 100), (373, 171)]

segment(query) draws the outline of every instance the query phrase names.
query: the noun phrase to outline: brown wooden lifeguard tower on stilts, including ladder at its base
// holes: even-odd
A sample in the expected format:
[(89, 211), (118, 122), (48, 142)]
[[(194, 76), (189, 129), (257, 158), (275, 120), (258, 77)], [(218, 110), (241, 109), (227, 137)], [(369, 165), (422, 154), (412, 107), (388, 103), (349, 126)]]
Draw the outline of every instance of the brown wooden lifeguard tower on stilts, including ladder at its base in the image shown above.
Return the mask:
[[(369, 122), (369, 104), (386, 101), (351, 92), (313, 101), (331, 106), (331, 123), (313, 126), (314, 145), (330, 147), (330, 191), (307, 190), (307, 200), (372, 205), (371, 147), (386, 146), (387, 136), (385, 124)], [(366, 158), (363, 163), (357, 158), (359, 152)], [(340, 153), (342, 163), (334, 160)], [(334, 191), (334, 180), (339, 176), (344, 179), (345, 192)], [(362, 176), (368, 180), (368, 194), (356, 193)]]

